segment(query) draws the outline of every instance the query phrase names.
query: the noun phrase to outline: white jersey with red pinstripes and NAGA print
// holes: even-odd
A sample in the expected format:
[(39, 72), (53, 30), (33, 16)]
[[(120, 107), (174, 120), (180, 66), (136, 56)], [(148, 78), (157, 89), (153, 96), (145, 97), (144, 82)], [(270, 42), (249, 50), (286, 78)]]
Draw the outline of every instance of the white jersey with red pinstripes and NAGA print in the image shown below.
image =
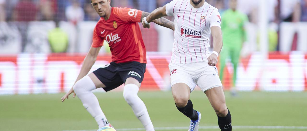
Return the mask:
[(171, 63), (208, 61), (211, 27), (221, 24), (218, 9), (207, 2), (194, 8), (190, 0), (173, 0), (166, 4), (166, 14), (175, 18)]

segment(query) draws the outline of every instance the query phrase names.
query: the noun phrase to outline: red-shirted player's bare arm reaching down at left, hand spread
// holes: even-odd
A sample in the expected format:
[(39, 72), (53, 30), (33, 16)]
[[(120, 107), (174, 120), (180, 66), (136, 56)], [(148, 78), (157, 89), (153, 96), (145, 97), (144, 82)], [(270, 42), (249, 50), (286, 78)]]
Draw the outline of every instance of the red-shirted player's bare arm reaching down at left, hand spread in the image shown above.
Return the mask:
[[(87, 53), (86, 57), (84, 58), (84, 61), (82, 63), (81, 66), (81, 70), (80, 73), (75, 81), (75, 83), (80, 80), (81, 78), (83, 78), (85, 75), (87, 75), (87, 73), (90, 71), (90, 69), (92, 68), (92, 66), (94, 65), (94, 63), (96, 62), (99, 50), (101, 47), (91, 47), (90, 51)], [(72, 94), (72, 97), (76, 96), (76, 93), (74, 92), (73, 88), (71, 88), (62, 98), (62, 102), (67, 98), (68, 99), (68, 95)]]

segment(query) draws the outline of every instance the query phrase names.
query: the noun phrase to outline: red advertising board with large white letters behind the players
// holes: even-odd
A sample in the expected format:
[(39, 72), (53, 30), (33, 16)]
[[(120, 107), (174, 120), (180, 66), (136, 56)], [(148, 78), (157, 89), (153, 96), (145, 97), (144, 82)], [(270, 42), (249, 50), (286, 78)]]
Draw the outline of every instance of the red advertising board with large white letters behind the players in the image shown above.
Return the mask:
[[(0, 56), (0, 94), (58, 93), (74, 84), (86, 54), (18, 54)], [(169, 90), (171, 54), (148, 53), (141, 90)], [(109, 54), (99, 55), (91, 71), (109, 63)], [(227, 64), (223, 87), (232, 86), (233, 69)], [(307, 91), (307, 54), (259, 53), (241, 58), (236, 88), (241, 91)], [(122, 90), (122, 87), (115, 91)]]

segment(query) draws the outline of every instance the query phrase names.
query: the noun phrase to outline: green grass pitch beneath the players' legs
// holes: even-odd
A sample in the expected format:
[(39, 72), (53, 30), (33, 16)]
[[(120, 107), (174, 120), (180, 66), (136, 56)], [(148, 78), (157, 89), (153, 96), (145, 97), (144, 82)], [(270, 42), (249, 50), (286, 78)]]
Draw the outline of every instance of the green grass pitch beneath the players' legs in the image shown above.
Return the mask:
[[(78, 98), (64, 94), (0, 96), (1, 131), (62, 131), (97, 129), (94, 118)], [(116, 128), (142, 128), (122, 92), (95, 93), (108, 121)], [(139, 92), (155, 127), (183, 127), (189, 119), (175, 107), (171, 92)], [(225, 92), (234, 131), (289, 131), (307, 129), (242, 129), (235, 126), (307, 126), (307, 92)], [(194, 109), (202, 114), (200, 126), (217, 126), (206, 95), (191, 94)], [(219, 129), (201, 129), (219, 131)], [(175, 131), (175, 130), (173, 130)], [(185, 130), (176, 130), (185, 131)]]

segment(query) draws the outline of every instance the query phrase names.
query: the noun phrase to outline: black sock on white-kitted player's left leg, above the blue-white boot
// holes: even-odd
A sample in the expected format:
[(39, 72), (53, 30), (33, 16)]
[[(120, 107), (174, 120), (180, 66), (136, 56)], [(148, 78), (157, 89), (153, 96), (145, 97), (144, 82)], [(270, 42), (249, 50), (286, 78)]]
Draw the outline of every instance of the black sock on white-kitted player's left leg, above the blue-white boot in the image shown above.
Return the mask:
[(177, 107), (177, 109), (181, 113), (185, 114), (185, 116), (190, 118), (192, 121), (196, 121), (198, 119), (198, 114), (196, 110), (193, 109), (193, 104), (191, 100), (188, 100), (188, 104), (185, 107)]

